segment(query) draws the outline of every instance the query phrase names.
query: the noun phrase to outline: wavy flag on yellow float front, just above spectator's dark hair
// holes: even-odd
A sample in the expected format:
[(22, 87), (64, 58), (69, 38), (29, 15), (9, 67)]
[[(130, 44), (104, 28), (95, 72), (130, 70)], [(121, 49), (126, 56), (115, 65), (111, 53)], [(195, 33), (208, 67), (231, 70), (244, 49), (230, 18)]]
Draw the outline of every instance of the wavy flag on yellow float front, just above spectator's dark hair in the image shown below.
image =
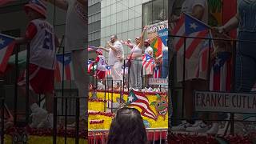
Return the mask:
[(151, 110), (149, 100), (142, 92), (131, 90), (127, 98), (126, 106), (136, 106), (142, 110), (142, 116), (156, 121), (154, 111)]

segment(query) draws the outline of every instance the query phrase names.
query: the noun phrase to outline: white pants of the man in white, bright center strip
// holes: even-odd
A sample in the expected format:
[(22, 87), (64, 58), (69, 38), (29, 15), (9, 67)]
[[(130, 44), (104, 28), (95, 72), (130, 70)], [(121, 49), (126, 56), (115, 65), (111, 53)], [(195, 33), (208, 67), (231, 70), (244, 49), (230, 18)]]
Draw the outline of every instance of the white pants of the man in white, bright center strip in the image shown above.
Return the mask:
[(111, 65), (111, 75), (113, 78), (114, 86), (122, 82), (122, 62), (115, 62), (114, 65)]

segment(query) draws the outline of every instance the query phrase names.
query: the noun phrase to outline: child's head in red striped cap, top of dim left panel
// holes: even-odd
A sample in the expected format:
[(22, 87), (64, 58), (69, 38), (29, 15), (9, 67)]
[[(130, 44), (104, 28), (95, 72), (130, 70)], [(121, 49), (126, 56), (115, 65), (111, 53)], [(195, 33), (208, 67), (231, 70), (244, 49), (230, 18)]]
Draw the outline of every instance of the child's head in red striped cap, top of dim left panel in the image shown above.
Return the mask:
[(44, 0), (31, 0), (24, 6), (24, 10), (30, 20), (46, 18), (46, 2)]

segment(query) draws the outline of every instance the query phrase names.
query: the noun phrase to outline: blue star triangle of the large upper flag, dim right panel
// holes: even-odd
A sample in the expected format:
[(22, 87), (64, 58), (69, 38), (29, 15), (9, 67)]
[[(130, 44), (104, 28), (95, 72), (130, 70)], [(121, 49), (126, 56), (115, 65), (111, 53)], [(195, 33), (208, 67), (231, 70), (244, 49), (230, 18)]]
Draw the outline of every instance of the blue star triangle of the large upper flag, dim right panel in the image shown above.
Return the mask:
[(185, 33), (186, 35), (190, 35), (195, 32), (199, 32), (202, 30), (209, 29), (209, 26), (207, 26), (205, 23), (199, 21), (196, 18), (193, 18), (192, 16), (185, 14)]

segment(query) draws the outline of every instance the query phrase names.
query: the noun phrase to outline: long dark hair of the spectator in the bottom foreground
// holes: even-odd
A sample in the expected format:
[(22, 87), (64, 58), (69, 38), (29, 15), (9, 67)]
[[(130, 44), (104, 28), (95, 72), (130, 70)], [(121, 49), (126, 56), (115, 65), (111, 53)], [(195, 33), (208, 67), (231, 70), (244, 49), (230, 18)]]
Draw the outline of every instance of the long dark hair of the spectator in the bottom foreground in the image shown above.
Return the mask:
[(110, 125), (107, 144), (146, 144), (146, 128), (140, 112), (134, 108), (119, 109)]

